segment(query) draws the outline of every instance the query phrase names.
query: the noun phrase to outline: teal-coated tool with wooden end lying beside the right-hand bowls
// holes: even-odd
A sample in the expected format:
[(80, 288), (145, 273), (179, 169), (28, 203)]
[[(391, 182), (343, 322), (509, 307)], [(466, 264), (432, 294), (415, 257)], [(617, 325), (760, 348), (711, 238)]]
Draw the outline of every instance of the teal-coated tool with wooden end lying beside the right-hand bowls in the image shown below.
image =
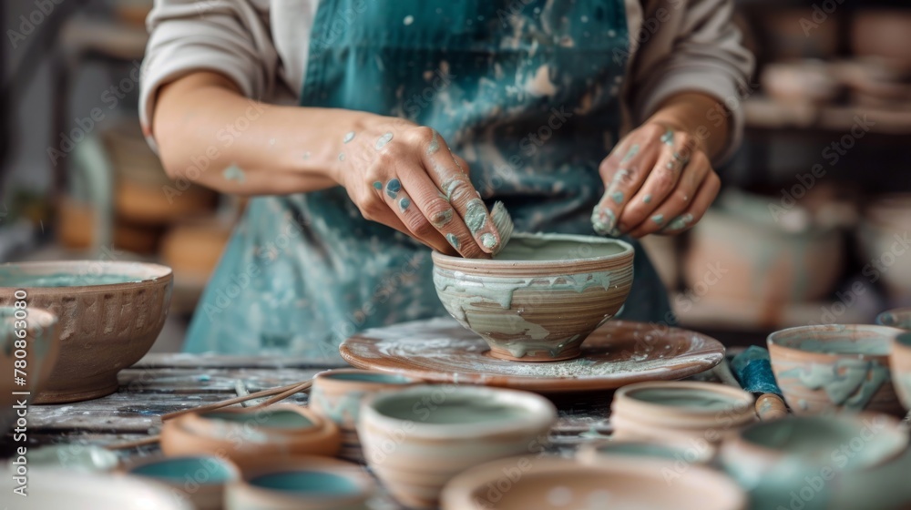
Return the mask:
[(775, 382), (768, 351), (762, 347), (750, 346), (734, 356), (731, 367), (742, 388), (757, 395), (756, 414), (760, 420), (765, 422), (788, 415), (788, 406), (782, 399), (781, 388)]

